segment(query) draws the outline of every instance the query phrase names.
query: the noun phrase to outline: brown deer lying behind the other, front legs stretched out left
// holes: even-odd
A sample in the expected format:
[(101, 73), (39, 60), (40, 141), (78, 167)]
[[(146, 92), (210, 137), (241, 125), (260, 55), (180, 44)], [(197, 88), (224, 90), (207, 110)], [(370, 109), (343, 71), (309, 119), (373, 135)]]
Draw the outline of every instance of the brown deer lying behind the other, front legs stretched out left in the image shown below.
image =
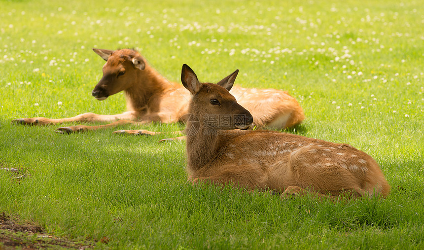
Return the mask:
[[(70, 118), (48, 119), (44, 117), (15, 119), (14, 123), (46, 125), (63, 122), (113, 122), (98, 126), (69, 126), (58, 128), (62, 132), (94, 130), (124, 123), (144, 124), (153, 121), (162, 123), (184, 122), (187, 114), (189, 92), (180, 84), (169, 82), (155, 71), (132, 49), (106, 50), (93, 48), (106, 64), (103, 77), (92, 91), (97, 100), (124, 91), (127, 110), (122, 114), (104, 115), (83, 113)], [(234, 71), (228, 77), (235, 77)], [(293, 127), (304, 119), (299, 103), (286, 91), (234, 87), (232, 94), (249, 108), (257, 127), (285, 129)], [(154, 134), (145, 130), (119, 131), (130, 134)]]

